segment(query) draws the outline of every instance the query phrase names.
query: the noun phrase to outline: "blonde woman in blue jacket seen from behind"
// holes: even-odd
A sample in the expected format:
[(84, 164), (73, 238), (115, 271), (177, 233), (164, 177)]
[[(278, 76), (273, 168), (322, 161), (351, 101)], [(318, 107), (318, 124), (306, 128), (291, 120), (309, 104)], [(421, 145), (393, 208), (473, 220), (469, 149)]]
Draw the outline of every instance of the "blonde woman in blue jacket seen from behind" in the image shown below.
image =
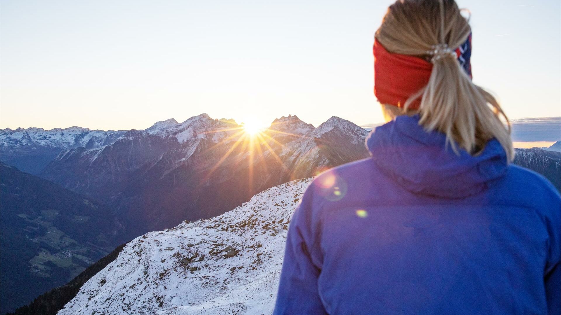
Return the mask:
[(302, 197), (274, 314), (559, 314), (559, 194), (509, 164), (470, 34), (453, 0), (389, 7), (374, 70), (392, 121)]

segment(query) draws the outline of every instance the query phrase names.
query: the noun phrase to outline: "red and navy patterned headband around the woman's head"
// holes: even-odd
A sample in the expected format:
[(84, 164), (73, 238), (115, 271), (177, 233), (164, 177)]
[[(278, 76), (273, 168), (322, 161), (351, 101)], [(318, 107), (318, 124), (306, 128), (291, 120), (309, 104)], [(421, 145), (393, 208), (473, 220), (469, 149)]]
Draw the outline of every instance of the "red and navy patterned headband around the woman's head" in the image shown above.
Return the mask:
[[(456, 50), (456, 57), (467, 75), (471, 75), (471, 34)], [(433, 64), (423, 58), (392, 54), (376, 39), (374, 41), (374, 95), (381, 104), (403, 107), (411, 95), (429, 82)], [(421, 98), (415, 99), (410, 109), (418, 109)]]

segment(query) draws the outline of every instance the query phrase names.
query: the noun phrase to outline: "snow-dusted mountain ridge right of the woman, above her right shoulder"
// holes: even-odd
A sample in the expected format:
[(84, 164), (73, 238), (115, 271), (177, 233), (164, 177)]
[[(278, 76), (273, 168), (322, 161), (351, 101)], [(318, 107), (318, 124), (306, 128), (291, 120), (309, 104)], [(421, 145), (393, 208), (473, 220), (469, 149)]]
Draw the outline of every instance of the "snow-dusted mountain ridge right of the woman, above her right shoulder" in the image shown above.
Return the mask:
[(532, 149), (515, 149), (514, 164), (544, 175), (561, 190), (561, 152)]

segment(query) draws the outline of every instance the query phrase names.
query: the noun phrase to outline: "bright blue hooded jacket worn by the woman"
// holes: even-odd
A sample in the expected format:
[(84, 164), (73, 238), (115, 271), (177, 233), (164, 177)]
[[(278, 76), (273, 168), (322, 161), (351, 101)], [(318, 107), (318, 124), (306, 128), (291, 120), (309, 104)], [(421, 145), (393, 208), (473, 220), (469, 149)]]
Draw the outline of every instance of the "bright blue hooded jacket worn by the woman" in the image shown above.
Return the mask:
[(459, 155), (418, 117), (316, 177), (274, 314), (559, 314), (559, 193), (491, 140)]

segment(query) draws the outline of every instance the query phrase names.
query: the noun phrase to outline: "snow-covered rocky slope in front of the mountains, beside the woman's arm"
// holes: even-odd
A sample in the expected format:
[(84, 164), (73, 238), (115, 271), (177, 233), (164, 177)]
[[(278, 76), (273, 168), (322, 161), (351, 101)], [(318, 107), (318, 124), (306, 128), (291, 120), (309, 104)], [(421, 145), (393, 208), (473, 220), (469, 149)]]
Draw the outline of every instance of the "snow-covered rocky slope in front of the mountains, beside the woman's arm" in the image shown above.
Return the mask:
[(128, 243), (58, 314), (270, 314), (289, 219), (311, 179)]

